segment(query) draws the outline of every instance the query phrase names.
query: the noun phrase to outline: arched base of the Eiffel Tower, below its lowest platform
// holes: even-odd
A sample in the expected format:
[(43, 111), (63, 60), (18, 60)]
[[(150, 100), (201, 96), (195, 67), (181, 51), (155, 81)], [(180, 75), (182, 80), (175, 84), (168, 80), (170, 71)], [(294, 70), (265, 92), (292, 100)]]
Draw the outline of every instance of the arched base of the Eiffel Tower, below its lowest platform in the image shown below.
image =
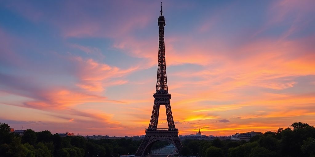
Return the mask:
[(150, 154), (152, 145), (157, 141), (167, 141), (172, 143), (176, 147), (178, 155), (180, 156), (183, 145), (178, 137), (178, 129), (169, 128), (146, 129), (146, 136), (140, 144), (135, 156), (144, 157), (147, 154)]

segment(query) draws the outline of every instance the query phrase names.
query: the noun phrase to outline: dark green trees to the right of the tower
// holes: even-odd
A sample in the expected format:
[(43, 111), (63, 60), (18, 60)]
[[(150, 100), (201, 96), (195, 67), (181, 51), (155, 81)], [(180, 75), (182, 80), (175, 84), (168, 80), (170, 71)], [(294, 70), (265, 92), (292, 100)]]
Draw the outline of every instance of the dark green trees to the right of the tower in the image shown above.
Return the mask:
[(202, 157), (315, 157), (315, 128), (295, 122), (288, 128), (279, 128), (256, 135), (248, 142), (186, 139), (182, 155)]

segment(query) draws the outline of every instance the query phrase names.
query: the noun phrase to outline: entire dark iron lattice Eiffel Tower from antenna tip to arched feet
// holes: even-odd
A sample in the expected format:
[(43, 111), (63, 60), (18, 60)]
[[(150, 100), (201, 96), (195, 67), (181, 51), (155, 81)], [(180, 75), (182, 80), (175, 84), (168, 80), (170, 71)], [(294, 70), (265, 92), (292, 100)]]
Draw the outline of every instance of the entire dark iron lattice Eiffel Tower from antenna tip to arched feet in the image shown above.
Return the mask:
[[(146, 156), (150, 153), (152, 145), (157, 141), (168, 141), (174, 144), (177, 152), (180, 153), (183, 148), (178, 137), (178, 129), (175, 128), (171, 104), (169, 99), (171, 95), (167, 87), (166, 78), (166, 64), (165, 64), (165, 45), (164, 45), (164, 26), (165, 19), (162, 15), (162, 2), (161, 2), (161, 16), (159, 16), (157, 23), (159, 26), (159, 45), (158, 45), (158, 62), (157, 62), (157, 86), (154, 97), (154, 105), (149, 127), (146, 129), (146, 136), (140, 144), (135, 156)], [(157, 121), (159, 109), (161, 105), (165, 105), (167, 123), (169, 128), (157, 128)], [(180, 155), (180, 154), (179, 154)]]

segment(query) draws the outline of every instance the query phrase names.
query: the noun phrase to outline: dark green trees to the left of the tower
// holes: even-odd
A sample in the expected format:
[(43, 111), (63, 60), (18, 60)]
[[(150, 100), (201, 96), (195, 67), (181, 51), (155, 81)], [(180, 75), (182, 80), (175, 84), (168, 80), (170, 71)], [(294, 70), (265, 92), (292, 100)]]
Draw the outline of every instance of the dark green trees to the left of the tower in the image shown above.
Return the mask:
[(27, 129), (23, 136), (9, 132), (0, 123), (0, 157), (112, 157), (134, 154), (141, 141), (132, 139), (86, 139), (83, 136), (61, 138), (49, 131)]

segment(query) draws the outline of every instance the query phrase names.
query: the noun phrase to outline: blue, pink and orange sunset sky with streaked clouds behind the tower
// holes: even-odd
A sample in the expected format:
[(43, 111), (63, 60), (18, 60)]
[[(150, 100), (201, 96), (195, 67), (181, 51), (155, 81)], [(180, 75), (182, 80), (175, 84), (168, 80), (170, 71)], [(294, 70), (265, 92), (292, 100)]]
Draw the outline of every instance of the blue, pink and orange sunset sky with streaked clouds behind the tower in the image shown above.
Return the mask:
[[(315, 125), (315, 1), (165, 1), (179, 134)], [(0, 122), (54, 133), (145, 134), (160, 1), (0, 2)], [(159, 128), (166, 128), (161, 106)]]

